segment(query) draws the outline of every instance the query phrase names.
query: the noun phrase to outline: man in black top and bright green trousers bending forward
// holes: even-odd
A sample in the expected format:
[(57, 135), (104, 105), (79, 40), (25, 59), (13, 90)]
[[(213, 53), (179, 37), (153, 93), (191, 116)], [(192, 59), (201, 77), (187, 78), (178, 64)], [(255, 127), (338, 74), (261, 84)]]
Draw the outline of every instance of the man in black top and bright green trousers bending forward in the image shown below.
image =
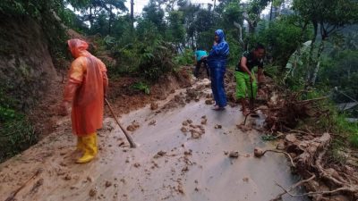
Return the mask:
[(258, 83), (252, 69), (258, 66), (258, 81), (263, 82), (265, 77), (263, 74), (262, 58), (265, 54), (265, 46), (258, 44), (251, 52), (244, 52), (240, 62), (235, 68), (236, 79), (236, 97), (242, 104), (243, 115), (250, 113), (248, 110), (247, 97), (251, 97), (251, 83), (253, 97), (256, 98)]

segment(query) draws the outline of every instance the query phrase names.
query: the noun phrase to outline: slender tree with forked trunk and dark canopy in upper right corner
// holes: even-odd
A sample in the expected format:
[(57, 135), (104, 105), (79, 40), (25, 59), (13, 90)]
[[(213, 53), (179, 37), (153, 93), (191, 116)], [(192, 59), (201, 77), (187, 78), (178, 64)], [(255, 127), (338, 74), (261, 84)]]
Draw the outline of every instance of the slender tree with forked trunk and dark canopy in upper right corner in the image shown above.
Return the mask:
[[(311, 21), (314, 28), (311, 50), (307, 64), (307, 88), (314, 85), (320, 69), (320, 56), (329, 36), (346, 25), (358, 22), (358, 2), (354, 0), (294, 0), (294, 10), (303, 19)], [(320, 33), (320, 45), (314, 54), (316, 38)]]

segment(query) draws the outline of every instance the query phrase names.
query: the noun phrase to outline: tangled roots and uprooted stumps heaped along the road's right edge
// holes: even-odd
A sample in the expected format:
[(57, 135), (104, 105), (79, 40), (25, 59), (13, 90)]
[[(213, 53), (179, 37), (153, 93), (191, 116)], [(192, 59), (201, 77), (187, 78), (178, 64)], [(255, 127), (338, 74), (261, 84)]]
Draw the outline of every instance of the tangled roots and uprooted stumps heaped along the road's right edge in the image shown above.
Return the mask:
[[(328, 150), (332, 135), (301, 130), (293, 130), (305, 119), (317, 121), (322, 116), (329, 117), (328, 111), (322, 111), (319, 101), (326, 97), (310, 100), (299, 100), (298, 92), (289, 94), (287, 91), (268, 100), (268, 108), (262, 111), (266, 114), (266, 129), (271, 133), (286, 133), (285, 152), (290, 155), (294, 173), (298, 173), (302, 180), (290, 188), (278, 187), (284, 190), (272, 201), (282, 200), (287, 194), (291, 197), (311, 197), (314, 201), (323, 200), (357, 200), (358, 199), (358, 172), (348, 165), (336, 165), (328, 161)], [(273, 96), (275, 97), (275, 96)], [(269, 150), (268, 150), (269, 151)], [(264, 155), (267, 151), (255, 150)], [(261, 156), (260, 155), (260, 156)], [(307, 193), (294, 195), (292, 191), (299, 186), (305, 187)]]

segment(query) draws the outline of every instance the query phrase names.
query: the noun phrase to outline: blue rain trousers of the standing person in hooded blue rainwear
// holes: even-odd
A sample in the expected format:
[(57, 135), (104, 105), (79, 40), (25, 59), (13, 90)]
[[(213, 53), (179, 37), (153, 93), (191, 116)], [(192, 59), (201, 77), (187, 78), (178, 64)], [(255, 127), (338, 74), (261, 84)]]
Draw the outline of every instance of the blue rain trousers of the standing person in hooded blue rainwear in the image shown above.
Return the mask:
[(225, 107), (226, 102), (226, 91), (224, 88), (224, 75), (226, 72), (226, 66), (221, 63), (213, 63), (209, 66), (210, 78), (211, 78), (211, 89), (215, 99), (215, 103), (219, 107)]

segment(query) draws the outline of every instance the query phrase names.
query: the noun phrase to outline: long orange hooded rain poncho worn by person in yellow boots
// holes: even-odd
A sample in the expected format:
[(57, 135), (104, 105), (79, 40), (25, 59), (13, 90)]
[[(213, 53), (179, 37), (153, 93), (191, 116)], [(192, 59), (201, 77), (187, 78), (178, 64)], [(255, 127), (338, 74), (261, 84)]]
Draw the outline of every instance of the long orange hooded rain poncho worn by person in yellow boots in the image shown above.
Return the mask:
[(102, 128), (107, 69), (87, 51), (86, 42), (71, 39), (67, 43), (75, 60), (64, 87), (64, 101), (72, 102), (73, 134), (87, 136)]

